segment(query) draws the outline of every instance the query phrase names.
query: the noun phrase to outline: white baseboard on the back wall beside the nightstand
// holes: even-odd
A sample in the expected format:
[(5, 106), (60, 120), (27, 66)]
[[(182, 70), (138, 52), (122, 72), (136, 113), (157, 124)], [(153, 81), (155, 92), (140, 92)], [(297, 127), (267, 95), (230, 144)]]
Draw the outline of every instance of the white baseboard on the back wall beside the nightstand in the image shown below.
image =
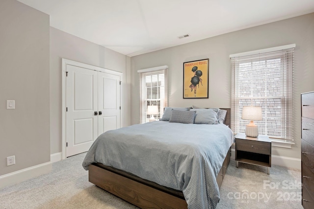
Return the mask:
[[(235, 149), (231, 149), (231, 159), (235, 160)], [(271, 164), (301, 170), (301, 159), (271, 155)]]

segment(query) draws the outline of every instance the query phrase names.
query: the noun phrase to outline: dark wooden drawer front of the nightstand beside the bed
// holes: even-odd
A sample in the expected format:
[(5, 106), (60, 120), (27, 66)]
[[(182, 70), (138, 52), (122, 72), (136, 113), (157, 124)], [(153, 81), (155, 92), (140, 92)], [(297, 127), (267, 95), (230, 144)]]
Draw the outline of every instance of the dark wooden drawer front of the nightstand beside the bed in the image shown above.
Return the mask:
[(271, 154), (271, 143), (254, 140), (235, 139), (236, 150), (254, 152), (260, 154)]

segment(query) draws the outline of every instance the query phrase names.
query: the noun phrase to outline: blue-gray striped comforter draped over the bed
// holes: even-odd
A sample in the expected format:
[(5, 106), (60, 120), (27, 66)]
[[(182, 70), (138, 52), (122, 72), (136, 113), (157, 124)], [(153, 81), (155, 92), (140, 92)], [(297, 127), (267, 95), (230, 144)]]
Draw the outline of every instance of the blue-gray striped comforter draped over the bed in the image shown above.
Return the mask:
[(107, 131), (82, 163), (103, 163), (183, 191), (189, 209), (215, 208), (217, 174), (234, 142), (224, 124), (155, 121)]

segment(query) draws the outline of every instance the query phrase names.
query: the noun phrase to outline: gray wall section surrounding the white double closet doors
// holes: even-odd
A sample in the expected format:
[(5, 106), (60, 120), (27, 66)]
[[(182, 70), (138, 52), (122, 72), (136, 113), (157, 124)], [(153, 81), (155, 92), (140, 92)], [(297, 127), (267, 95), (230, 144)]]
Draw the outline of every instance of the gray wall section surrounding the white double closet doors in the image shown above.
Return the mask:
[(61, 152), (62, 58), (123, 73), (123, 126), (131, 124), (130, 57), (50, 27), (51, 154)]

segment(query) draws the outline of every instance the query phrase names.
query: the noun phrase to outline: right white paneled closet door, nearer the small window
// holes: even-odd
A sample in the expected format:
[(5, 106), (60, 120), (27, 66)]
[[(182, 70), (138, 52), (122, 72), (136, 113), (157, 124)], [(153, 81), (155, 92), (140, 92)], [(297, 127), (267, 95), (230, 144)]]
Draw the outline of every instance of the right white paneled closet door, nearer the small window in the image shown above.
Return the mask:
[(98, 72), (98, 135), (120, 128), (121, 76)]

